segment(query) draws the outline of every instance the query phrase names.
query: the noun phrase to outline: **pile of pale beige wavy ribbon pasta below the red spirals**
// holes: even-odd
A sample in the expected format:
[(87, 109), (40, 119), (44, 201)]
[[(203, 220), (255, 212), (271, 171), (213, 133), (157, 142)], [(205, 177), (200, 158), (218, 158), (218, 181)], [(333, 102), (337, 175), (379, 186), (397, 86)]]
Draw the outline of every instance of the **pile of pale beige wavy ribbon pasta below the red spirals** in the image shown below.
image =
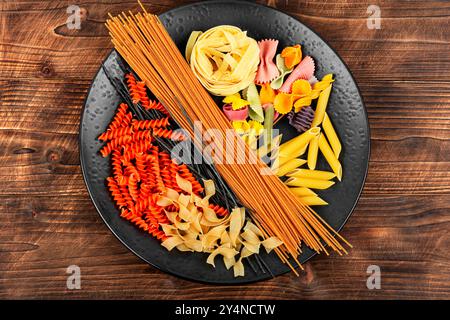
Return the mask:
[[(172, 207), (177, 211), (166, 211), (172, 225), (164, 224), (164, 233), (169, 236), (162, 242), (167, 250), (177, 248), (180, 251), (209, 253), (207, 263), (215, 266), (216, 256), (222, 255), (227, 269), (233, 267), (234, 276), (244, 276), (243, 258), (258, 254), (261, 245), (267, 252), (280, 246), (276, 237), (264, 239), (262, 231), (245, 217), (244, 208), (234, 208), (224, 218), (218, 218), (209, 208), (209, 198), (215, 194), (212, 180), (205, 181), (205, 197), (192, 193), (188, 180), (176, 177), (183, 193), (167, 189), (158, 200), (162, 207)], [(261, 240), (263, 239), (263, 240)]]

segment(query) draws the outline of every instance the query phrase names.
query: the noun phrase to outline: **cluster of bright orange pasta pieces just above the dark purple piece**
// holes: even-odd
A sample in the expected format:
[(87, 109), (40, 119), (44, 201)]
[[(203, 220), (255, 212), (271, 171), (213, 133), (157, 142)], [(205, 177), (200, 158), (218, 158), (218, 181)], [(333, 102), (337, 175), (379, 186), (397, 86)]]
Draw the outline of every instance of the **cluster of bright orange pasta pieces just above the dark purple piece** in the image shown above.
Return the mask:
[[(280, 92), (277, 94), (273, 103), (274, 108), (278, 113), (286, 114), (292, 110), (294, 102), (296, 101), (299, 102), (295, 105), (296, 109), (300, 109), (305, 106), (305, 102), (306, 105), (310, 105), (311, 98), (309, 98), (309, 95), (311, 95), (311, 92), (311, 84), (307, 80), (296, 80), (292, 84), (292, 93)], [(306, 97), (309, 99), (305, 99)]]

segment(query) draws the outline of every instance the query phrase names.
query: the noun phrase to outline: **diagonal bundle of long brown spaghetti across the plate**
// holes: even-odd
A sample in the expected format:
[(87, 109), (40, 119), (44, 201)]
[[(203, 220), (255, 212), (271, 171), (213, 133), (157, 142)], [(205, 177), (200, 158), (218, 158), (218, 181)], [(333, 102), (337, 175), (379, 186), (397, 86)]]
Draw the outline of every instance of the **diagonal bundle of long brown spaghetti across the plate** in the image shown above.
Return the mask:
[[(116, 50), (191, 138), (191, 123), (200, 121), (206, 130), (218, 130), (219, 138), (225, 141), (225, 132), (232, 130), (229, 121), (196, 79), (157, 16), (145, 9), (144, 13), (110, 15), (106, 25)], [(261, 170), (269, 172), (268, 167), (237, 135), (234, 140), (236, 153), (248, 161), (216, 164), (216, 168), (250, 209), (258, 227), (283, 241), (283, 246), (275, 249), (280, 259), (296, 273), (288, 259), (291, 257), (300, 265), (297, 258), (302, 243), (318, 253), (328, 254), (325, 245), (339, 254), (346, 253), (340, 241), (350, 244), (316, 212), (299, 202), (278, 177), (262, 175)], [(220, 148), (215, 151), (218, 156), (226, 154)]]

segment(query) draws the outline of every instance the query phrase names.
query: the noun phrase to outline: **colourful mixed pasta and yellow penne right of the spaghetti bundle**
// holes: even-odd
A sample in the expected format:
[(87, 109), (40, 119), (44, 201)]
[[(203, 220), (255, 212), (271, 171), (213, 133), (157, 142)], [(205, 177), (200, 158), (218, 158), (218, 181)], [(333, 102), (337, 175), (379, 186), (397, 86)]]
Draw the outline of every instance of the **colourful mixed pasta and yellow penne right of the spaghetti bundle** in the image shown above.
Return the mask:
[[(220, 33), (223, 38), (230, 38), (229, 26), (217, 26), (210, 30), (215, 34)], [(209, 33), (210, 30), (205, 33)], [(197, 46), (199, 34), (202, 34), (201, 31), (192, 32), (189, 47)], [(339, 181), (342, 179), (342, 167), (338, 160), (341, 144), (326, 114), (333, 76), (327, 74), (318, 81), (314, 75), (314, 60), (310, 56), (303, 57), (300, 44), (285, 47), (277, 54), (278, 40), (263, 39), (257, 43), (259, 51), (254, 53), (254, 57), (256, 59), (259, 55), (259, 64), (253, 82), (243, 90), (227, 87), (229, 91), (226, 91), (226, 94), (225, 91), (214, 92), (225, 96), (222, 100), (223, 113), (241, 138), (254, 150), (261, 148), (261, 142), (258, 140), (261, 140), (263, 129), (270, 131), (277, 118), (279, 120), (287, 115), (289, 124), (301, 135), (283, 143), (278, 152), (270, 152), (272, 170), (278, 177), (283, 177), (284, 183), (289, 187), (328, 189), (334, 185), (334, 178)], [(201, 47), (204, 52), (214, 51), (219, 55), (224, 54), (222, 45), (218, 42), (209, 42), (207, 45), (202, 43)], [(238, 51), (234, 51), (231, 47), (223, 60), (228, 61), (226, 56), (234, 54), (238, 55)], [(222, 69), (222, 65), (217, 65), (217, 70), (213, 68), (216, 61), (214, 57), (212, 55), (209, 59), (203, 57), (200, 60), (205, 67), (207, 65), (211, 69), (212, 77)], [(198, 61), (192, 56), (187, 58), (191, 68), (195, 70)], [(234, 90), (231, 91), (232, 89)], [(265, 138), (266, 141), (262, 141), (262, 144), (270, 145), (272, 143), (270, 132)], [(323, 171), (316, 170), (319, 151), (329, 164), (331, 172), (324, 174)], [(266, 155), (267, 152), (264, 152), (260, 156)], [(305, 159), (302, 159), (302, 156)], [(308, 171), (299, 169), (303, 166), (307, 166)], [(295, 195), (310, 206), (328, 204), (313, 191), (307, 195), (298, 193)]]

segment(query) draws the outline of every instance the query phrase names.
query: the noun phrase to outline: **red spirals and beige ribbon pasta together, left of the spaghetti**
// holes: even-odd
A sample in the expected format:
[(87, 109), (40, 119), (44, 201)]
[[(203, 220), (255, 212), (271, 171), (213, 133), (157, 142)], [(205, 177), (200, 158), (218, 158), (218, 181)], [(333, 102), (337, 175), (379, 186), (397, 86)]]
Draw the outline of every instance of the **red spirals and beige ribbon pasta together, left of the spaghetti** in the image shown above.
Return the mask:
[(243, 259), (258, 254), (261, 246), (270, 252), (281, 241), (265, 237), (246, 219), (244, 208), (229, 213), (211, 203), (214, 182), (203, 181), (203, 187), (185, 164), (159, 149), (156, 137), (171, 141), (185, 137), (170, 129), (170, 116), (160, 103), (149, 99), (142, 82), (133, 74), (126, 79), (133, 103), (157, 110), (162, 117), (137, 120), (129, 106), (121, 103), (98, 137), (105, 143), (100, 154), (111, 156), (112, 176), (106, 180), (120, 216), (168, 250), (209, 253), (207, 263), (213, 266), (221, 255), (227, 269), (233, 268), (236, 277), (244, 276)]

